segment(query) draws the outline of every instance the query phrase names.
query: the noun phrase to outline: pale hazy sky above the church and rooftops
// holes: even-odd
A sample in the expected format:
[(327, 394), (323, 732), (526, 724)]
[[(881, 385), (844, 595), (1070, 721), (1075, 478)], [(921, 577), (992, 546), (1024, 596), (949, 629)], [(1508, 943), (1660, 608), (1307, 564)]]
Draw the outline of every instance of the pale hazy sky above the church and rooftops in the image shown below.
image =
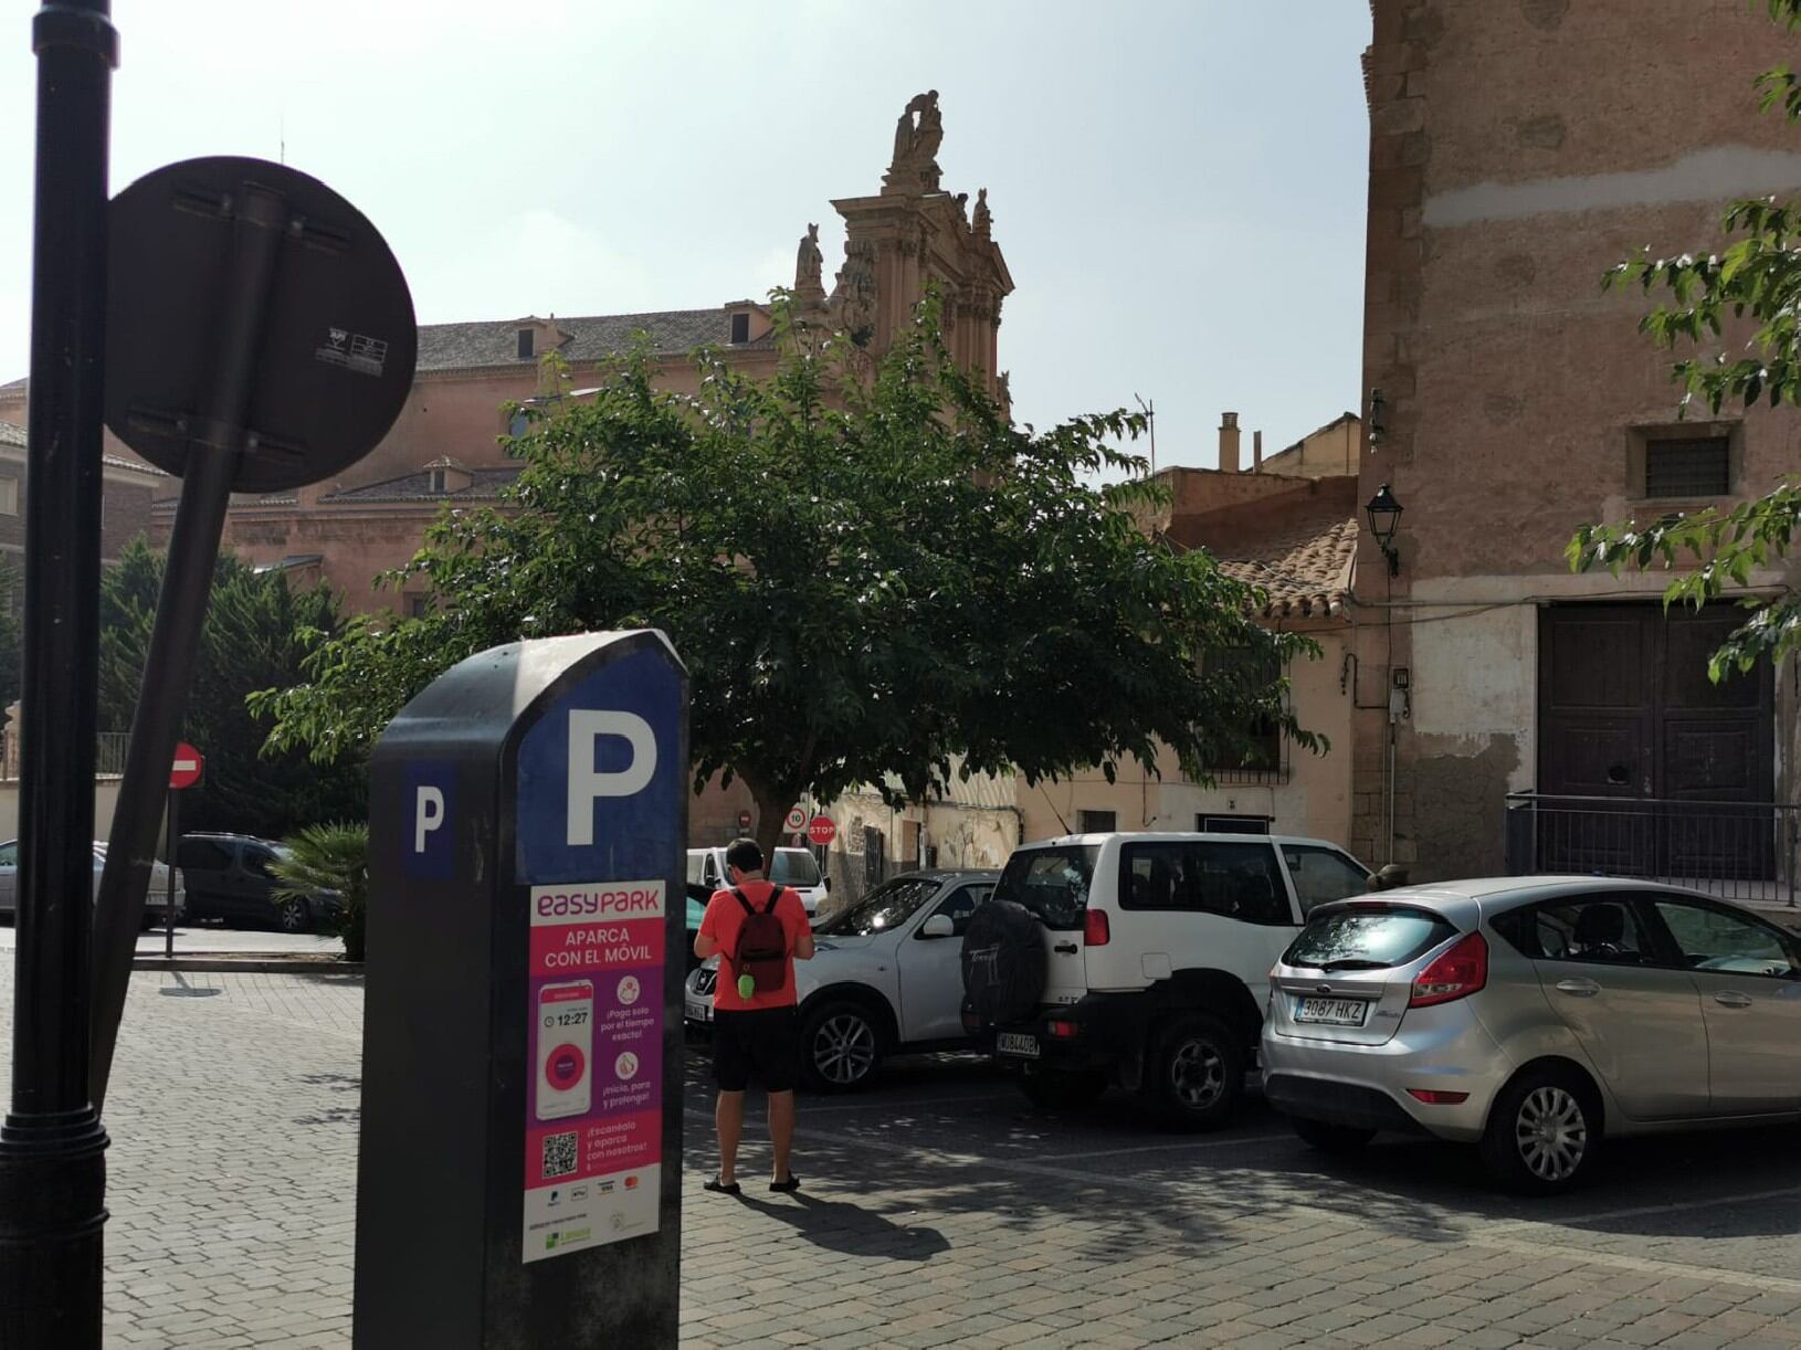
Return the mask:
[[(25, 374), (29, 13), (0, 25), (0, 382)], [(875, 193), (940, 92), (947, 191), (989, 189), (1014, 412), (1219, 412), (1275, 452), (1358, 405), (1363, 0), (113, 0), (113, 189), (277, 158), (387, 236), (421, 322), (764, 297)], [(1250, 437), (1244, 441), (1250, 454)]]

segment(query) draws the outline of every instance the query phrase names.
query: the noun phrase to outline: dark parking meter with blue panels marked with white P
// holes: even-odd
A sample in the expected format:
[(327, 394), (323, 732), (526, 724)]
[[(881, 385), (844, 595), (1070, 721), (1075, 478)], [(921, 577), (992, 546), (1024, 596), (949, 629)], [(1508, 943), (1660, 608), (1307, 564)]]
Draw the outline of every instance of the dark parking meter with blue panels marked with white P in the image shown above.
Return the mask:
[(493, 648), (376, 745), (355, 1345), (674, 1346), (688, 684)]

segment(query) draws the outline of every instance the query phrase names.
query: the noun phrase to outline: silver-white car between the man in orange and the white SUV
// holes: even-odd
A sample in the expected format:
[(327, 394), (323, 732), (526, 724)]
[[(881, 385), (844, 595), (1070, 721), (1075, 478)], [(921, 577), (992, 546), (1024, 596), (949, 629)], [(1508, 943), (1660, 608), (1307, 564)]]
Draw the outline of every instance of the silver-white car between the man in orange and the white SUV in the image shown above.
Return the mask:
[[(854, 1091), (875, 1078), (888, 1055), (969, 1044), (958, 954), (969, 916), (998, 877), (908, 871), (814, 929), (814, 958), (794, 963), (809, 1085)], [(688, 1026), (711, 1026), (717, 979), (719, 958), (688, 976)]]

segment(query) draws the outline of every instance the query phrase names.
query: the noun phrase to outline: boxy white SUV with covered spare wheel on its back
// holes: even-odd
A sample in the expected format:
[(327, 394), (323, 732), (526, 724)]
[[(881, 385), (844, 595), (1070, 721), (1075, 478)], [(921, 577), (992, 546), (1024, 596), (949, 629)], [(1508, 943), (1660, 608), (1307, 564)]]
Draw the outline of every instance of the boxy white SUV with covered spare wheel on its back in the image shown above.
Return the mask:
[(1070, 835), (1014, 851), (964, 936), (964, 1024), (1041, 1105), (1142, 1091), (1212, 1129), (1244, 1091), (1270, 968), (1369, 869), (1286, 835)]

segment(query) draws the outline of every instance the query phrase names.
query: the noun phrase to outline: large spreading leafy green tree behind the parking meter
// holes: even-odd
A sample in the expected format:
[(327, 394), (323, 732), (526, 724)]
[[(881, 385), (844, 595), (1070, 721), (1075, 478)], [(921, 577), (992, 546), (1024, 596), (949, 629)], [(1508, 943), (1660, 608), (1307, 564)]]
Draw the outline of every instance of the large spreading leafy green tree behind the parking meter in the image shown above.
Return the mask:
[(321, 643), (304, 684), (254, 700), (270, 743), (362, 756), (465, 655), (652, 626), (688, 662), (695, 787), (742, 778), (765, 846), (803, 792), (893, 774), (917, 799), (956, 756), (1037, 781), (1154, 767), (1163, 742), (1199, 776), (1270, 716), (1320, 745), (1257, 662), (1203, 666), (1311, 644), (1252, 623), (1257, 592), (1205, 551), (1140, 531), (1156, 488), (1113, 446), (1138, 418), (1010, 425), (935, 302), (879, 362), (778, 317), (765, 382), (702, 353), (697, 396), (657, 391), (639, 349), (593, 401), (533, 410), (504, 508), (445, 517), (396, 574), (427, 583), (427, 612)]

